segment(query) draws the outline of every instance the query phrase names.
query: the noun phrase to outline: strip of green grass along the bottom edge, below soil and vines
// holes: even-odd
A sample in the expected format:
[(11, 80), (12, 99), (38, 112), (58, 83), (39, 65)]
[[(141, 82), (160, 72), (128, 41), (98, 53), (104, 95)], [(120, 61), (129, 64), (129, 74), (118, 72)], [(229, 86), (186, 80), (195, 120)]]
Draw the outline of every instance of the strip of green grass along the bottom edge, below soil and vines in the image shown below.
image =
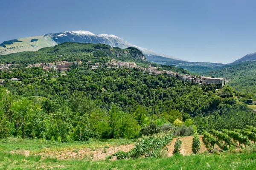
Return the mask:
[(41, 156), (21, 156), (0, 152), (0, 169), (64, 169), (64, 170), (253, 170), (256, 153), (221, 153), (168, 158), (130, 159), (117, 161), (57, 160)]

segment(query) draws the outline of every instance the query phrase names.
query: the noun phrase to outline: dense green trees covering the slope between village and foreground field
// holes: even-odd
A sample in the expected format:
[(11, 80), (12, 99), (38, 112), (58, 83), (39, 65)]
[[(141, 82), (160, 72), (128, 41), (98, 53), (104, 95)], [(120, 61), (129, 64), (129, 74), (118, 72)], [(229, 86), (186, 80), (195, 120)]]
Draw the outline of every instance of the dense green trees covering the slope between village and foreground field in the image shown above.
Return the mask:
[[(136, 138), (140, 136), (140, 129), (145, 130), (150, 122), (156, 123), (160, 119), (173, 123), (175, 119), (183, 118), (188, 123), (186, 125), (194, 121), (199, 133), (204, 129), (256, 125), (256, 119), (246, 105), (231, 107), (226, 99), (218, 98), (212, 91), (203, 91), (198, 86), (189, 87), (189, 82), (182, 82), (176, 77), (152, 76), (129, 68), (88, 70), (83, 66), (72, 68), (67, 72), (69, 76), (46, 72), (42, 68), (12, 71), (14, 73), (0, 72), (0, 78), (6, 79), (5, 88), (11, 91), (7, 94), (3, 90), (2, 105), (5, 109), (1, 112), (8, 121), (5, 124), (10, 132), (8, 135), (47, 140), (60, 138), (63, 142), (70, 139)], [(49, 76), (44, 77), (44, 74)], [(12, 77), (21, 81), (7, 80)], [(91, 88), (91, 85), (97, 88)], [(37, 104), (35, 87), (39, 96)], [(220, 111), (195, 118), (185, 113), (193, 115), (216, 109)], [(20, 113), (24, 117), (16, 119), (14, 116), (21, 116)], [(178, 135), (193, 134), (192, 128), (185, 125), (172, 130), (178, 131)], [(154, 131), (157, 132), (159, 129)]]

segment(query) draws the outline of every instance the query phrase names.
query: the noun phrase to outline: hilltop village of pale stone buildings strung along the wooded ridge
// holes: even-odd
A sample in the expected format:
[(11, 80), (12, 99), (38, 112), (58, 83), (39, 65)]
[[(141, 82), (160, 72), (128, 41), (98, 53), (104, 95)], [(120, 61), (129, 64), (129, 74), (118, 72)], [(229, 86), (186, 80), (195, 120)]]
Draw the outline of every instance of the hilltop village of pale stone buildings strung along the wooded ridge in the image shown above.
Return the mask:
[[(68, 71), (70, 69), (70, 66), (73, 64), (82, 64), (83, 62), (80, 59), (77, 59), (75, 62), (67, 62), (67, 61), (56, 61), (55, 63), (36, 63), (33, 65), (28, 65), (26, 68), (33, 68), (33, 67), (43, 67), (44, 71), (49, 71), (51, 69), (64, 73), (65, 71)], [(148, 68), (143, 68), (141, 66), (136, 65), (136, 62), (121, 62), (116, 59), (111, 59), (110, 62), (106, 62), (105, 65), (99, 65), (99, 63), (92, 63), (91, 61), (87, 61), (88, 65), (90, 65), (90, 69), (98, 69), (99, 67), (105, 67), (105, 68), (115, 68), (118, 69), (120, 67), (127, 67), (127, 68), (138, 68), (143, 73), (147, 74), (164, 74), (169, 75), (171, 77), (178, 77), (179, 79), (182, 79), (184, 81), (194, 82), (194, 83), (205, 83), (205, 84), (220, 84), (224, 85), (225, 79), (223, 77), (216, 78), (214, 76), (212, 77), (203, 77), (203, 76), (196, 76), (196, 75), (189, 75), (189, 74), (179, 74), (175, 73), (173, 71), (168, 70), (162, 70), (161, 67), (152, 67), (151, 64), (149, 64)], [(15, 68), (17, 64), (6, 64), (0, 65), (0, 71), (7, 71), (9, 73), (13, 73), (12, 71), (8, 71), (10, 68)], [(12, 78), (10, 79), (12, 81), (19, 81), (20, 79)], [(0, 83), (3, 84), (4, 80), (0, 80)]]

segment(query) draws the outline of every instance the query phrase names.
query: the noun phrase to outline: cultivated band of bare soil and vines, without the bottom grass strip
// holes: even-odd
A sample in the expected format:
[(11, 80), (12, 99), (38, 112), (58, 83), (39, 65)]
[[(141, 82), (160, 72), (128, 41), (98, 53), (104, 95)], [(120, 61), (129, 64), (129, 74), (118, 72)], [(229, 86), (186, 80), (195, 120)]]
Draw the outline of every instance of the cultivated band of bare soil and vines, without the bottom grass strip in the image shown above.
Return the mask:
[(222, 152), (225, 150), (237, 150), (237, 148), (241, 150), (243, 148), (255, 147), (255, 132), (255, 127), (248, 126), (242, 130), (222, 129), (218, 131), (212, 129), (204, 131), (203, 134), (198, 134), (195, 131), (193, 136), (174, 136), (173, 132), (169, 132), (144, 137), (137, 141), (116, 139), (119, 144), (102, 143), (99, 145), (97, 142), (93, 144), (95, 147), (92, 147), (92, 144), (85, 144), (84, 147), (77, 147), (75, 145), (75, 147), (68, 147), (68, 149), (67, 147), (58, 147), (34, 151), (29, 151), (27, 147), (15, 149), (20, 146), (15, 147), (13, 144), (9, 146), (7, 144), (7, 147), (13, 146), (13, 149), (10, 148), (9, 150), (11, 154), (44, 156), (58, 160), (98, 161), (104, 159), (159, 158), (172, 157), (174, 155), (200, 155), (201, 153), (215, 153), (216, 151)]

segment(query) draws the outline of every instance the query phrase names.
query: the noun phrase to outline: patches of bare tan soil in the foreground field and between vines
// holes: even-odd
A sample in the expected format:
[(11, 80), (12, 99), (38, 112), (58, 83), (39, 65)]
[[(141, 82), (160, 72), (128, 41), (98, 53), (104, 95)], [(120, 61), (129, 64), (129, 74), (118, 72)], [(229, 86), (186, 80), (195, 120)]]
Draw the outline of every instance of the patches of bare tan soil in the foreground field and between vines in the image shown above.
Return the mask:
[[(180, 137), (180, 140), (182, 141), (180, 153), (183, 156), (189, 156), (192, 152), (192, 142), (193, 142), (193, 136), (183, 136)], [(204, 145), (203, 142), (203, 136), (199, 136), (201, 141), (201, 147), (199, 149), (199, 153), (204, 153), (207, 151), (207, 147)], [(174, 138), (171, 143), (169, 143), (166, 147), (163, 148), (163, 152), (166, 153), (167, 156), (173, 156), (174, 151), (174, 145), (177, 138)], [(41, 153), (37, 153), (37, 155), (41, 155), (43, 157), (54, 157), (57, 159), (82, 159), (82, 160), (90, 160), (90, 161), (98, 161), (98, 160), (104, 160), (106, 156), (113, 155), (119, 150), (122, 150), (124, 152), (130, 151), (134, 147), (134, 144), (123, 144), (120, 146), (115, 147), (108, 147), (108, 148), (97, 148), (92, 149), (85, 147), (84, 149), (63, 149), (63, 150), (44, 150)], [(167, 148), (167, 149), (166, 149)], [(218, 148), (218, 145), (215, 145), (215, 148)], [(28, 156), (29, 150), (13, 150), (11, 153), (20, 153), (23, 155)], [(115, 157), (112, 159), (116, 159)]]

